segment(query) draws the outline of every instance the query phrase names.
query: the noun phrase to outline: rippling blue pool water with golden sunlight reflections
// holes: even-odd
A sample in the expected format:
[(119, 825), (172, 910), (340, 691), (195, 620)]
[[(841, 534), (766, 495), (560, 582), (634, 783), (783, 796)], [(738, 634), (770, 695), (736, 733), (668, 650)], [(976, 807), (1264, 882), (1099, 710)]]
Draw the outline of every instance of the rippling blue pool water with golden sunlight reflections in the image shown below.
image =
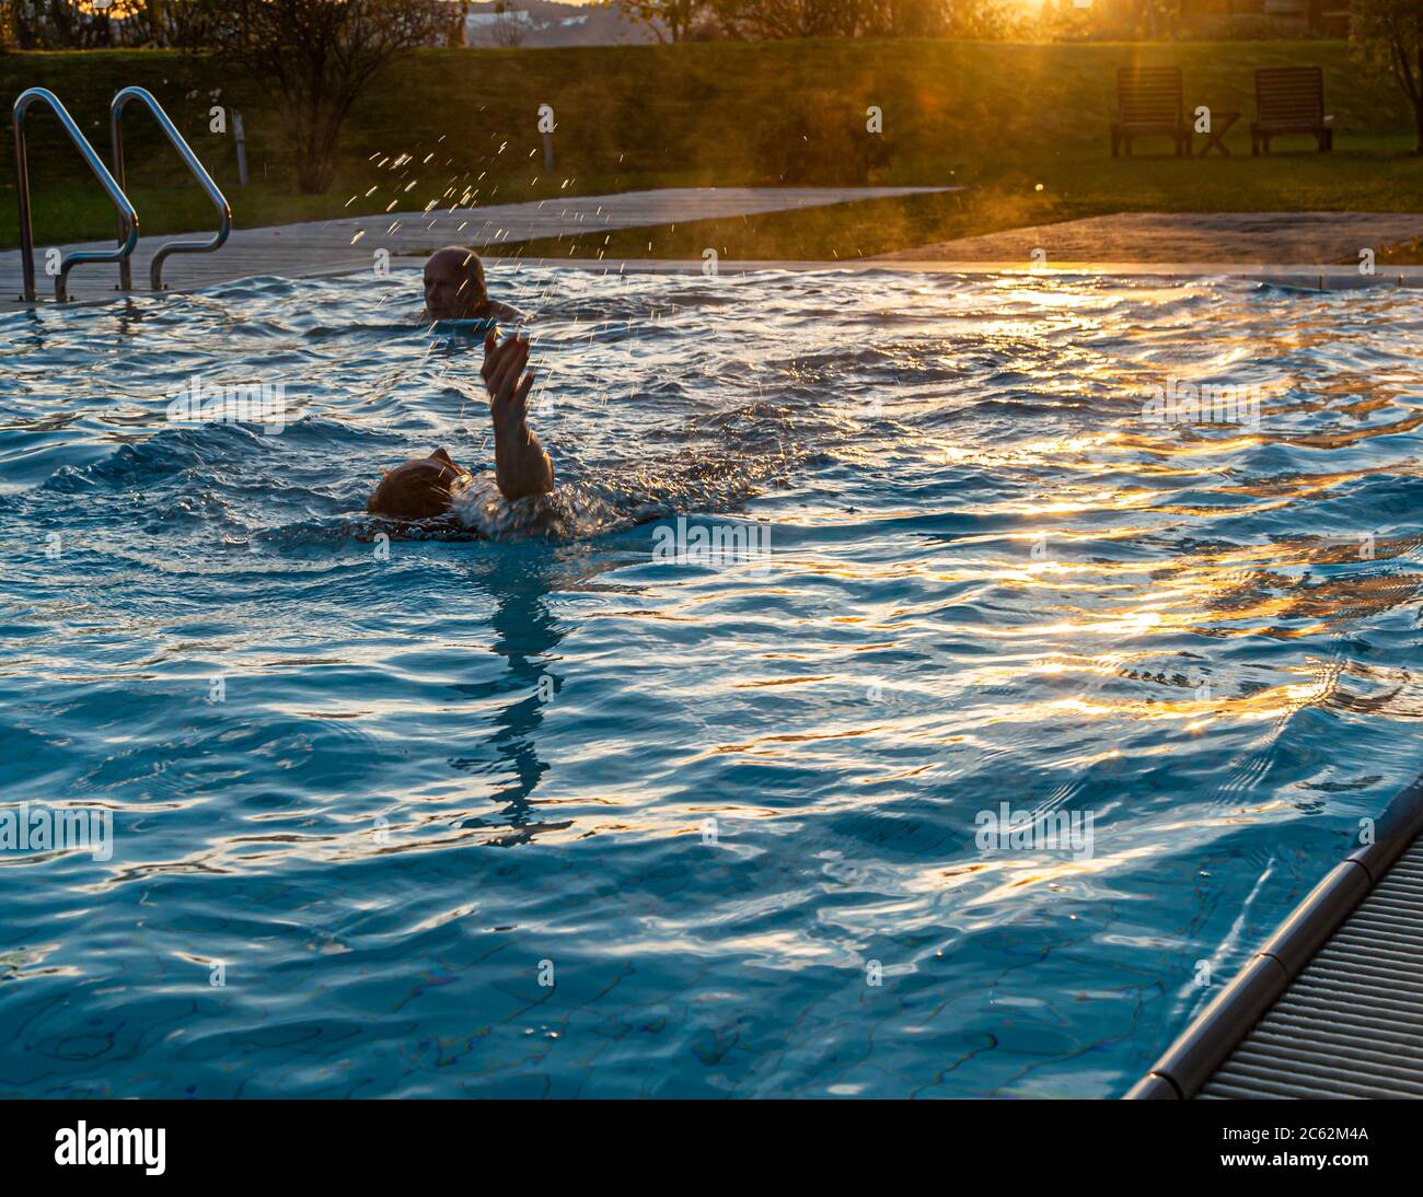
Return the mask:
[(491, 277), (544, 537), (413, 274), (0, 318), (4, 1096), (1116, 1096), (1417, 771), (1419, 291)]

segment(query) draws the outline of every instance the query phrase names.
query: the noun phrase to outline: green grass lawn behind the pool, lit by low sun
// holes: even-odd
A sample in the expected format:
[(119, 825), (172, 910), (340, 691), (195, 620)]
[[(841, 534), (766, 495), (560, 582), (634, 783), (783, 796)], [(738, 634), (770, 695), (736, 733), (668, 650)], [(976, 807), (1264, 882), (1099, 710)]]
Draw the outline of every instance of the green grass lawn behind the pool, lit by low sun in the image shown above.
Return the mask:
[[(1237, 156), (1175, 159), (1158, 139), (1138, 144), (1141, 156), (1113, 159), (1113, 73), (1130, 61), (1180, 64), (1191, 108), (1242, 111), (1227, 138)], [(1251, 73), (1289, 63), (1325, 68), (1336, 151), (1311, 154), (1309, 139), (1286, 139), (1276, 146), (1285, 152), (1252, 159)], [(114, 91), (148, 87), (228, 192), (239, 227), (383, 212), (391, 203), (448, 206), (468, 188), (478, 188), (478, 202), (778, 182), (973, 188), (963, 196), (630, 230), (606, 246), (601, 236), (511, 247), (551, 256), (571, 249), (696, 256), (713, 245), (733, 257), (834, 259), (1116, 210), (1419, 210), (1423, 198), (1423, 158), (1409, 152), (1402, 92), (1329, 41), (430, 50), (357, 105), (324, 196), (296, 193), (280, 118), (262, 90), (211, 60), (171, 51), (9, 54), (0, 55), (0, 80), (10, 97), (36, 84), (54, 90), (101, 152)], [(208, 129), (212, 102), (246, 117), (246, 188), (236, 186), (231, 136)], [(542, 165), (539, 104), (554, 105), (558, 118), (552, 176)], [(881, 135), (865, 132), (869, 105), (884, 112)], [(31, 109), (30, 127), (37, 243), (108, 236), (112, 212), (57, 122)], [(125, 142), (145, 235), (211, 227), (205, 198), (141, 108), (128, 109)], [(11, 155), (6, 141), (4, 246), (18, 243)]]

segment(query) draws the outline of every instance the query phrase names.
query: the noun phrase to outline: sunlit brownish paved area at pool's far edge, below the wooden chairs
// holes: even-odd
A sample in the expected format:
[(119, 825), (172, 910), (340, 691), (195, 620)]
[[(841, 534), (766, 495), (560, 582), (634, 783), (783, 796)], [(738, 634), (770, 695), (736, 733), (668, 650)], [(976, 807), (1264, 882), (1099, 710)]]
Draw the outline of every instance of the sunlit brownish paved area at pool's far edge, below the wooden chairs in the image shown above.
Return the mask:
[(1359, 250), (1423, 237), (1423, 215), (1405, 212), (1118, 212), (1030, 225), (980, 237), (901, 249), (879, 262), (1017, 262), (1035, 249), (1063, 262), (1358, 263)]

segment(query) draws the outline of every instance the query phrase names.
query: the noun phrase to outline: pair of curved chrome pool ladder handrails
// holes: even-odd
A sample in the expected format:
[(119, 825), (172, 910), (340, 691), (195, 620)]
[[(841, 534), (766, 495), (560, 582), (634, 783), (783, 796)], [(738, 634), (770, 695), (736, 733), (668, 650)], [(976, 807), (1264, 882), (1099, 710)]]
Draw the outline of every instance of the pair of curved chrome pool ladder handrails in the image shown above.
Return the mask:
[(30, 219), (30, 165), (26, 156), (24, 142), (26, 112), (30, 109), (30, 105), (36, 102), (47, 104), (54, 111), (54, 115), (58, 117), (64, 132), (68, 134), (74, 148), (80, 152), (80, 156), (85, 161), (90, 171), (94, 172), (94, 178), (98, 179), (100, 186), (102, 186), (108, 193), (110, 200), (114, 203), (114, 210), (118, 215), (118, 245), (114, 249), (74, 250), (60, 260), (60, 269), (54, 279), (54, 299), (58, 303), (64, 303), (68, 299), (70, 270), (84, 262), (117, 262), (120, 290), (132, 290), (134, 276), (129, 257), (134, 253), (134, 247), (138, 245), (138, 212), (124, 193), (122, 132), (124, 108), (132, 100), (138, 100), (148, 108), (149, 112), (154, 114), (154, 119), (158, 121), (158, 128), (162, 129), (164, 136), (166, 136), (174, 149), (178, 151), (178, 156), (182, 158), (189, 172), (192, 172), (194, 178), (198, 181), (198, 185), (203, 189), (203, 192), (206, 192), (208, 199), (211, 199), (212, 205), (218, 209), (219, 218), (218, 232), (208, 240), (168, 242), (166, 245), (158, 247), (148, 270), (148, 279), (152, 289), (155, 291), (162, 290), (164, 260), (169, 254), (211, 253), (226, 242), (228, 233), (232, 232), (232, 208), (228, 205), (226, 198), (212, 181), (212, 175), (209, 175), (203, 168), (198, 155), (192, 152), (192, 148), (184, 139), (182, 134), (178, 132), (174, 122), (168, 118), (162, 105), (149, 91), (141, 87), (125, 87), (110, 104), (108, 127), (114, 148), (114, 173), (110, 173), (108, 168), (94, 151), (94, 146), (90, 145), (88, 138), (85, 138), (80, 131), (80, 127), (60, 102), (58, 97), (47, 88), (31, 87), (20, 94), (20, 97), (14, 101), (13, 109), (16, 183), (20, 198), (20, 256), (21, 267), (24, 270), (23, 299), (26, 303), (34, 303), (37, 299), (34, 287), (34, 232)]

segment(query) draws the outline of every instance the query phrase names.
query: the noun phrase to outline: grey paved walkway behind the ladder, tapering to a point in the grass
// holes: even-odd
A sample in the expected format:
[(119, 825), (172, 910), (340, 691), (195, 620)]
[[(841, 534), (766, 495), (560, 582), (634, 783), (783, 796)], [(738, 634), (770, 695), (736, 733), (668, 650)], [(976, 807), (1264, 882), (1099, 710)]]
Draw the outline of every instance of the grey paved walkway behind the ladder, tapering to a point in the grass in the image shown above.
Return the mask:
[[(377, 249), (391, 257), (424, 254), (451, 243), (487, 246), (586, 233), (592, 229), (636, 229), (653, 225), (682, 225), (724, 216), (754, 216), (798, 208), (822, 208), (861, 199), (884, 199), (921, 192), (962, 188), (669, 188), (665, 190), (588, 195), (541, 199), (528, 203), (499, 203), (454, 213), (391, 212), (380, 216), (350, 216), (275, 225), (266, 229), (235, 229), (215, 253), (175, 254), (164, 263), (164, 283), (174, 289), (202, 287), (255, 274), (307, 277), (369, 270)], [(229, 196), (231, 199), (231, 196)], [(242, 203), (240, 193), (235, 200)], [(138, 213), (142, 225), (144, 213)], [(211, 232), (211, 230), (205, 230)], [(148, 262), (168, 240), (196, 235), (141, 237), (134, 250), (134, 283), (148, 287)], [(90, 242), (83, 249), (108, 249), (112, 242)], [(63, 249), (80, 249), (64, 246)], [(36, 286), (41, 299), (54, 297), (54, 280), (44, 274), (44, 249), (36, 247)], [(699, 263), (700, 264), (700, 263)], [(77, 266), (70, 273), (70, 296), (75, 300), (108, 299), (118, 281), (117, 266)], [(20, 252), (0, 253), (0, 304), (14, 307), (23, 290)]]

